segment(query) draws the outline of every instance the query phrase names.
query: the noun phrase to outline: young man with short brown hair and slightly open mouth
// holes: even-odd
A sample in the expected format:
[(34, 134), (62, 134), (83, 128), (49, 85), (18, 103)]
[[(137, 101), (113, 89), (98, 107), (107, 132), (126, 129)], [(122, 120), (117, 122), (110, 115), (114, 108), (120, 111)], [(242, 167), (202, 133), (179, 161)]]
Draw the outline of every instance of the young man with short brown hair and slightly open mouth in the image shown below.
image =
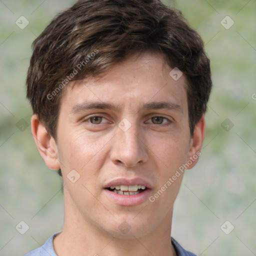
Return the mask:
[(170, 238), (211, 90), (200, 36), (159, 0), (83, 0), (33, 42), (40, 155), (63, 178), (63, 231), (30, 255), (194, 255)]

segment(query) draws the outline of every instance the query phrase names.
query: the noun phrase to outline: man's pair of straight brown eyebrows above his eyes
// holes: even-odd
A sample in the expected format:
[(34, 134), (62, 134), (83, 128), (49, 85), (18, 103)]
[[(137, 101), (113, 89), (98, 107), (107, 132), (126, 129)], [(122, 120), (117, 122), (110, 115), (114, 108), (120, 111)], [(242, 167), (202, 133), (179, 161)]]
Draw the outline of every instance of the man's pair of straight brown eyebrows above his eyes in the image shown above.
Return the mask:
[[(78, 112), (82, 112), (88, 109), (110, 109), (115, 111), (120, 111), (122, 108), (122, 105), (114, 105), (112, 102), (101, 102), (101, 101), (95, 101), (95, 102), (87, 102), (84, 101), (82, 103), (76, 104), (72, 107), (70, 113), (75, 114)], [(149, 103), (145, 103), (142, 105), (140, 110), (142, 109), (168, 109), (168, 110), (176, 110), (179, 112), (183, 112), (182, 108), (179, 104), (167, 102), (167, 101), (152, 101)]]

